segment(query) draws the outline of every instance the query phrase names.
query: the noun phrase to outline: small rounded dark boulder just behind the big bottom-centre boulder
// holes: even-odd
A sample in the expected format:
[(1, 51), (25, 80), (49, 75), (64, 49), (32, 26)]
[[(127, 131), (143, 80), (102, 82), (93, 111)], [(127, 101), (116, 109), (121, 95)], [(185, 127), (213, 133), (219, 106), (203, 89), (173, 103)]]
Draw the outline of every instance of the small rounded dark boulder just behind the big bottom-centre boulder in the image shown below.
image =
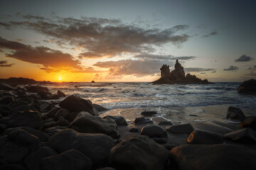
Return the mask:
[(148, 137), (167, 137), (167, 132), (158, 125), (146, 125), (142, 128), (141, 135)]

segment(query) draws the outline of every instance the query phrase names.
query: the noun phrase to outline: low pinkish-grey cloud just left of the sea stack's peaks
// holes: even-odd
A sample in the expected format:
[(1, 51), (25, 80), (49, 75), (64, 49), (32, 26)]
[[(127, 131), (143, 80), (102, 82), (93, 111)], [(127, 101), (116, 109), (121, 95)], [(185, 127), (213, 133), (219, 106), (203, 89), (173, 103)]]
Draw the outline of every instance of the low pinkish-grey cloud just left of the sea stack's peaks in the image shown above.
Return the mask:
[[(160, 72), (160, 67), (166, 61), (160, 60), (118, 60), (108, 62), (97, 62), (93, 66), (108, 69), (110, 75), (134, 75), (142, 77)], [(174, 63), (170, 63), (173, 65)]]

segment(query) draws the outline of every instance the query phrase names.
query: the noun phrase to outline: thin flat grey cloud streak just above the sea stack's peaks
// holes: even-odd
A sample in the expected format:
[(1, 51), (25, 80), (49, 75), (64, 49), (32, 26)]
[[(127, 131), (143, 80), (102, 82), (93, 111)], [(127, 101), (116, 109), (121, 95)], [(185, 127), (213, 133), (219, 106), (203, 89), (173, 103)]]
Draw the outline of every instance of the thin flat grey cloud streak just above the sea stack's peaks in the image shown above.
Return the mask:
[(174, 57), (172, 55), (151, 55), (151, 54), (144, 53), (144, 54), (134, 55), (134, 58), (154, 59), (154, 60), (191, 60), (191, 59), (195, 59), (196, 57), (194, 56)]

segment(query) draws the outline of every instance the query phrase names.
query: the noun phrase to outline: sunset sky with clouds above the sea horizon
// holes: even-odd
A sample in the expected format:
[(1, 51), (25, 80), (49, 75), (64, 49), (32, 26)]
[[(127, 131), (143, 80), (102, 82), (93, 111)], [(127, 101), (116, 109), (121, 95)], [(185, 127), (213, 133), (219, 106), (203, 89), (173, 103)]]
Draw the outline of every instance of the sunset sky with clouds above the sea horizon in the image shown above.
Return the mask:
[(256, 78), (256, 1), (0, 1), (0, 78), (208, 81)]

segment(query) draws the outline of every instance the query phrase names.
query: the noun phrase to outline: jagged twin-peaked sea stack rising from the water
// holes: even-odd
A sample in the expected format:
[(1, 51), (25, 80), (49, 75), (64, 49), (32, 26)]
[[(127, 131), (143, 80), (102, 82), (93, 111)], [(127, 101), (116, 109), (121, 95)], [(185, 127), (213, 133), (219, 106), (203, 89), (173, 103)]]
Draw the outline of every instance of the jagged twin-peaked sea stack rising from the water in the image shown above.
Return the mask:
[(207, 79), (201, 80), (195, 75), (186, 74), (181, 63), (176, 60), (174, 70), (170, 72), (169, 65), (164, 64), (161, 67), (161, 78), (153, 81), (153, 84), (212, 84)]

